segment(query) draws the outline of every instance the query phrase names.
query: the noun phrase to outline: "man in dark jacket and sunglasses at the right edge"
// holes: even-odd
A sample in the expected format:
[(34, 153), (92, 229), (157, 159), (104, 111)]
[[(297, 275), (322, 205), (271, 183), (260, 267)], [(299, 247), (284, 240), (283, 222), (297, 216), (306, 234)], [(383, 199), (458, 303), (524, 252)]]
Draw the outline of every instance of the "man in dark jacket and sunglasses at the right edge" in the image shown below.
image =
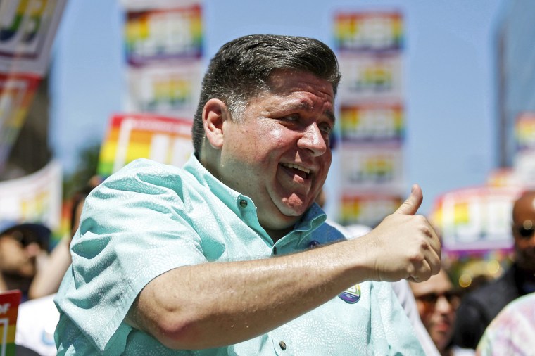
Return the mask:
[(465, 296), (455, 325), (456, 344), (475, 349), (492, 319), (510, 301), (535, 291), (535, 191), (526, 191), (512, 208), (515, 257), (496, 281)]

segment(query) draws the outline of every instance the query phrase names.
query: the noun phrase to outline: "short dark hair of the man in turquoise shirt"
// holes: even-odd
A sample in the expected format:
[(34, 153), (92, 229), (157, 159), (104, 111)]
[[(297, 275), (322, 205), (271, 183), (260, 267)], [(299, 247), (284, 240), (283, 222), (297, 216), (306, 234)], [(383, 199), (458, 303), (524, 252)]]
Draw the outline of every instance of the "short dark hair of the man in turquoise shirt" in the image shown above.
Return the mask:
[(203, 78), (192, 129), (197, 157), (204, 138), (202, 113), (206, 102), (220, 99), (232, 120), (241, 120), (248, 100), (269, 89), (270, 75), (275, 70), (313, 74), (330, 82), (335, 95), (341, 77), (333, 51), (317, 39), (251, 34), (227, 42), (212, 58)]

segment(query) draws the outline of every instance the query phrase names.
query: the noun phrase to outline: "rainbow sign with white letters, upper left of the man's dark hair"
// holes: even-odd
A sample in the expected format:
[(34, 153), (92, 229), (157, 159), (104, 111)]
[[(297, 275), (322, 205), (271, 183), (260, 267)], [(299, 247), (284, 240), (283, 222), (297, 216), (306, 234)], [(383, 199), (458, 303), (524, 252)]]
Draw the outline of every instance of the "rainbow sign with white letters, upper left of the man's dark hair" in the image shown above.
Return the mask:
[(125, 44), (132, 65), (162, 59), (201, 58), (201, 6), (128, 11)]

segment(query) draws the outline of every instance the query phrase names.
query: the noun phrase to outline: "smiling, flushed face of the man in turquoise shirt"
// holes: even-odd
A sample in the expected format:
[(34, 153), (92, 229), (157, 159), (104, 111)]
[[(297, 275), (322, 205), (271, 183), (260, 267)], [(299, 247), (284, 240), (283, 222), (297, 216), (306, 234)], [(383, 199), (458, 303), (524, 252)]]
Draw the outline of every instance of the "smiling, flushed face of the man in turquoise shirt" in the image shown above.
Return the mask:
[(288, 229), (313, 204), (331, 165), (332, 85), (303, 72), (275, 72), (241, 122), (225, 121), (220, 179), (253, 199), (260, 224)]

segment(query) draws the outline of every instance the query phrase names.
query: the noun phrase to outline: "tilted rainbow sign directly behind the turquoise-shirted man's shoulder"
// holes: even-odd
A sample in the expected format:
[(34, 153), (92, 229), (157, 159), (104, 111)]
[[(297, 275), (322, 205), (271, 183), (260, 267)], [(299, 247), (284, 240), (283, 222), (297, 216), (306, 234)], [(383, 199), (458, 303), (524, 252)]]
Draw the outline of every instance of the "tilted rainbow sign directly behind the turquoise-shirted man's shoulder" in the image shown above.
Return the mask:
[(114, 115), (97, 173), (107, 177), (137, 158), (182, 166), (191, 153), (191, 120), (151, 114)]

